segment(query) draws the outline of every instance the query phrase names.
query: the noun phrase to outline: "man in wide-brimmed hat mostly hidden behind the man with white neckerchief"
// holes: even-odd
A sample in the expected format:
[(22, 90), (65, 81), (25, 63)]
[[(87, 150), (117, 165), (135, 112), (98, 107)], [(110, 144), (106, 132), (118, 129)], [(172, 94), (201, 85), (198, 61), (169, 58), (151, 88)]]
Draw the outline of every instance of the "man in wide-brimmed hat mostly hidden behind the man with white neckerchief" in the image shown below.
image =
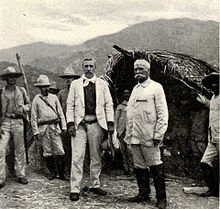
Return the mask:
[[(80, 78), (80, 75), (77, 75), (72, 67), (67, 67), (64, 70), (63, 75), (60, 75), (60, 77), (65, 82), (65, 88), (58, 93), (58, 99), (63, 109), (63, 113), (64, 115), (66, 115), (66, 101), (69, 94), (70, 84), (73, 80)], [(66, 153), (65, 154), (66, 174), (69, 176), (71, 169), (71, 137), (68, 134), (68, 132), (62, 135), (62, 141)]]

